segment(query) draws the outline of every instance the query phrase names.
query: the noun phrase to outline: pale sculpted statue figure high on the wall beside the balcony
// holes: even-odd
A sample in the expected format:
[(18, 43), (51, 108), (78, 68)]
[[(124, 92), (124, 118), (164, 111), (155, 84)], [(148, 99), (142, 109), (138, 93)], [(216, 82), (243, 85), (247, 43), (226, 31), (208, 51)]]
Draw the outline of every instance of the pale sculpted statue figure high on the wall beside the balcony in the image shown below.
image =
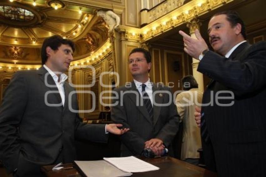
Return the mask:
[(109, 26), (109, 32), (112, 33), (114, 29), (119, 25), (120, 18), (118, 15), (116, 15), (113, 11), (103, 11), (100, 10), (97, 12), (97, 15), (102, 17), (107, 25)]

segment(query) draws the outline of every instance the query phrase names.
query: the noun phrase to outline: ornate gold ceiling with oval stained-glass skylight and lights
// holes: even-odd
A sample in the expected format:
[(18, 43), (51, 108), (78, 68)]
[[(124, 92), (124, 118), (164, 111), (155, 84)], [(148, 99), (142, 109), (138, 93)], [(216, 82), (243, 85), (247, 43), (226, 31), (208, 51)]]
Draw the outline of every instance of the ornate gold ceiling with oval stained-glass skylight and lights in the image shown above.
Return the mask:
[(39, 64), (45, 38), (58, 34), (76, 44), (74, 59), (89, 56), (108, 38), (105, 21), (96, 8), (64, 3), (55, 10), (51, 0), (9, 0), (0, 2), (0, 62)]

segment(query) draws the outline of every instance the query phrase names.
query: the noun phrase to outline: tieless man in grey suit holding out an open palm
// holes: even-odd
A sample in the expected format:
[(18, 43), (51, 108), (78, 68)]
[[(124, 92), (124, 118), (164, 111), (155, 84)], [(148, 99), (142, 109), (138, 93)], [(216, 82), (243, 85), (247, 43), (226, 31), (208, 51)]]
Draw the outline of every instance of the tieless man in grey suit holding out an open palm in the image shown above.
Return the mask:
[[(43, 176), (41, 165), (71, 163), (74, 139), (106, 142), (107, 132), (123, 134), (119, 124), (83, 124), (74, 88), (64, 72), (73, 60), (74, 43), (60, 36), (43, 42), (39, 70), (18, 71), (0, 108), (0, 159), (15, 176)], [(69, 96), (71, 95), (71, 96)]]

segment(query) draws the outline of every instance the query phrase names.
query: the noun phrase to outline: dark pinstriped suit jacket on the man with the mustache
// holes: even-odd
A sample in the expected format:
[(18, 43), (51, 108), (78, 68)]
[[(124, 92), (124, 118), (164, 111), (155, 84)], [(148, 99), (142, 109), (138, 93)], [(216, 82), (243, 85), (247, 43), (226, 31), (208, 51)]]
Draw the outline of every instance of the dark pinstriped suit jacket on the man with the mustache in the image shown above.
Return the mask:
[[(204, 153), (213, 150), (220, 176), (266, 176), (266, 42), (242, 43), (228, 59), (208, 51), (198, 71), (213, 79), (202, 99), (214, 102), (202, 107), (213, 146), (202, 144)], [(216, 94), (234, 98), (215, 101)]]

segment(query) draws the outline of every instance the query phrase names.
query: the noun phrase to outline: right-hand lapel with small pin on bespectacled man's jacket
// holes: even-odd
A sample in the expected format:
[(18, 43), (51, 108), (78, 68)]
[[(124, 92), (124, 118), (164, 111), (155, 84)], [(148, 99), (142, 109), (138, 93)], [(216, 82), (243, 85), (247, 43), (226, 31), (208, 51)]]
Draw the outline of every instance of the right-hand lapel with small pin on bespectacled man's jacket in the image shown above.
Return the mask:
[(153, 84), (152, 86), (152, 94), (154, 95), (154, 100), (153, 100), (153, 123), (154, 125), (156, 124), (159, 115), (160, 115), (160, 111), (161, 111), (161, 106), (155, 105), (156, 104), (161, 104), (163, 101), (163, 93), (156, 93), (154, 94), (156, 91), (159, 91), (160, 88), (158, 88), (156, 86), (156, 84)]

